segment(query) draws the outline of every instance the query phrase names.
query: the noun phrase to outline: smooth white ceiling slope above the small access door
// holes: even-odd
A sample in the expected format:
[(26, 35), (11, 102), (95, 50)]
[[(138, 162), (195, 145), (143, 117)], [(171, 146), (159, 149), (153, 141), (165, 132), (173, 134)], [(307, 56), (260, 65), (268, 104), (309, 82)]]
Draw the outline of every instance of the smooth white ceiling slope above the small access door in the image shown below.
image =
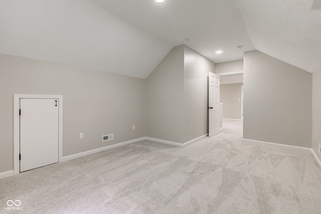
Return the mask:
[(172, 46), (87, 0), (1, 0), (0, 53), (146, 78)]

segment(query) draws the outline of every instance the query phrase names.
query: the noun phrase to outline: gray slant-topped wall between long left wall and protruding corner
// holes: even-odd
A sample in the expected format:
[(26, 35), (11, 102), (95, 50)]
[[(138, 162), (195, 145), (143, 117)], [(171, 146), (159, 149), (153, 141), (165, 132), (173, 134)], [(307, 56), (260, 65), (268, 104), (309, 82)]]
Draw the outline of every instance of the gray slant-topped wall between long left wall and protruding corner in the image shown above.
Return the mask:
[(146, 136), (184, 143), (184, 46), (174, 47), (146, 79)]

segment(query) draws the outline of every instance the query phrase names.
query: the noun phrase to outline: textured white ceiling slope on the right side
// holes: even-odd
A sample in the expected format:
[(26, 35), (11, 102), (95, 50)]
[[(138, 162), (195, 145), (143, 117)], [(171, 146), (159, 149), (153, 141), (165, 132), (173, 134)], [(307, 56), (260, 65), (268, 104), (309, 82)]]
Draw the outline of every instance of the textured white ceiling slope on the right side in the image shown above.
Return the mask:
[(321, 66), (321, 13), (311, 0), (238, 0), (256, 50), (313, 73)]

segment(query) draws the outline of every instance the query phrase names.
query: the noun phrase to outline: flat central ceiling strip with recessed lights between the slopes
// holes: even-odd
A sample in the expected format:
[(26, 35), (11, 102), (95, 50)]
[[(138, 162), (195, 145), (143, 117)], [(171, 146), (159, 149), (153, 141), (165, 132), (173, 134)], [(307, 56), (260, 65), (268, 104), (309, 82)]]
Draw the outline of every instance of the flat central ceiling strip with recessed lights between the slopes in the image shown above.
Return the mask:
[[(243, 59), (244, 51), (255, 49), (234, 1), (91, 1), (172, 47), (185, 44), (215, 63)], [(217, 50), (224, 53), (216, 55)]]

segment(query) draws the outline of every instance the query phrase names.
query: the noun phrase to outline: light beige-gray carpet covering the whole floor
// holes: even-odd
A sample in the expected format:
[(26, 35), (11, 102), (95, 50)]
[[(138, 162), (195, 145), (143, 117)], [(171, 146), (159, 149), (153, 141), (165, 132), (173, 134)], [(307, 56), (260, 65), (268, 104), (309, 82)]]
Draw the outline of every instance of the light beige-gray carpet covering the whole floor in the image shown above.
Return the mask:
[[(186, 147), (141, 141), (0, 180), (0, 212), (321, 213), (308, 151), (242, 143), (242, 122)], [(15, 211), (15, 210), (13, 210)]]

